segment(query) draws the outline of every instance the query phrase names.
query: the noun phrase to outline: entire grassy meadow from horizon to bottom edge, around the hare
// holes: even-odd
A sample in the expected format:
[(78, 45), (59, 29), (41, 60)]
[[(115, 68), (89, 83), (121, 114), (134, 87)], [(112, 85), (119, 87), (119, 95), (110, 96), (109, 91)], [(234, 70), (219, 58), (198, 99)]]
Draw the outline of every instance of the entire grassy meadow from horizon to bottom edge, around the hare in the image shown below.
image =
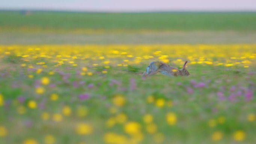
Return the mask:
[(245, 12), (2, 11), (0, 144), (252, 144), (255, 30)]

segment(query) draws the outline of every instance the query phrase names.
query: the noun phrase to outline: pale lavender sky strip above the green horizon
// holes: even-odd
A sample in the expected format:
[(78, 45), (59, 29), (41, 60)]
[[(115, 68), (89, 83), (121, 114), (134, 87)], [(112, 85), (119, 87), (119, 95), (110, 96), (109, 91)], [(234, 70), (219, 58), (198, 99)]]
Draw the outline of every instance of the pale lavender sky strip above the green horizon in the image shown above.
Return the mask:
[(256, 11), (256, 0), (0, 0), (0, 9), (97, 12)]

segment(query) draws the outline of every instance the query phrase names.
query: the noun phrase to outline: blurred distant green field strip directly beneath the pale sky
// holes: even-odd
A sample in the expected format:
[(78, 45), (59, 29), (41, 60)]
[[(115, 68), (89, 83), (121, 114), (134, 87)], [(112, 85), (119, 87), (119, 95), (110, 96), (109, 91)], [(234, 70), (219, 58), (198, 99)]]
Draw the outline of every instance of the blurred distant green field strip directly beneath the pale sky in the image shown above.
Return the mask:
[(233, 30), (255, 31), (254, 12), (79, 13), (0, 12), (2, 30)]

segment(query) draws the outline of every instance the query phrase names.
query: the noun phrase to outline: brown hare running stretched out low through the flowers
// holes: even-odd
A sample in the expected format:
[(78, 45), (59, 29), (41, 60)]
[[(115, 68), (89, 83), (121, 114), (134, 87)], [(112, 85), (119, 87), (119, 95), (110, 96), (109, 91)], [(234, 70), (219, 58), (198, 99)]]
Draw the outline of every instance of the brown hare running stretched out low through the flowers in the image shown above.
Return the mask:
[(188, 70), (186, 70), (186, 64), (188, 61), (186, 61), (183, 64), (182, 69), (178, 69), (176, 67), (171, 67), (168, 64), (165, 64), (161, 61), (152, 61), (150, 62), (149, 66), (146, 68), (146, 71), (143, 73), (143, 77), (145, 76), (152, 76), (158, 72), (161, 74), (164, 74), (166, 76), (189, 76)]

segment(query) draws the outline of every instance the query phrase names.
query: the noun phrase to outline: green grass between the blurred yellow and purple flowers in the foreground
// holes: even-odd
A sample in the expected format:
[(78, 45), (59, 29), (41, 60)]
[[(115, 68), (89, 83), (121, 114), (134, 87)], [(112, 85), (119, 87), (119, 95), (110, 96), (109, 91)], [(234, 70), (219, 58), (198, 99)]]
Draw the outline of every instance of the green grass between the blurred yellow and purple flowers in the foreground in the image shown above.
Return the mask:
[[(78, 60), (77, 60), (78, 61)], [(79, 60), (81, 61), (81, 60)], [(35, 61), (31, 61), (31, 64)], [(95, 66), (89, 70), (93, 71), (93, 76), (80, 76), (77, 71), (87, 65), (87, 60), (82, 65), (69, 67), (52, 67), (48, 62), (48, 68), (43, 72), (36, 74), (35, 71), (21, 68), (18, 62), (3, 61), (2, 65), (9, 65), (1, 70), (0, 92), (6, 102), (5, 107), (0, 107), (0, 123), (8, 129), (5, 138), (0, 139), (1, 143), (21, 143), (27, 138), (33, 138), (38, 143), (44, 143), (46, 135), (53, 135), (56, 144), (70, 144), (85, 141), (86, 143), (103, 144), (103, 135), (107, 132), (116, 132), (120, 135), (130, 136), (124, 132), (124, 124), (115, 124), (109, 128), (106, 122), (111, 117), (116, 117), (118, 113), (125, 113), (128, 122), (138, 122), (141, 125), (141, 132), (144, 140), (141, 144), (155, 144), (153, 136), (147, 134), (146, 124), (143, 122), (143, 115), (150, 113), (153, 115), (153, 123), (157, 125), (157, 131), (165, 136), (163, 144), (172, 141), (173, 144), (215, 144), (211, 141), (211, 134), (216, 131), (223, 133), (223, 139), (218, 141), (219, 144), (234, 143), (233, 134), (235, 131), (242, 130), (246, 133), (246, 139), (241, 144), (255, 141), (254, 134), (255, 122), (249, 122), (247, 115), (255, 113), (255, 98), (245, 101), (244, 96), (237, 96), (236, 101), (229, 101), (231, 94), (236, 94), (243, 89), (249, 89), (250, 83), (256, 83), (254, 75), (248, 75), (254, 71), (255, 67), (244, 69), (242, 67), (211, 66), (211, 65), (191, 65), (188, 70), (191, 73), (189, 77), (166, 77), (161, 74), (148, 77), (146, 80), (141, 79), (141, 74), (147, 67), (146, 63), (137, 66), (116, 67), (111, 66), (107, 74), (101, 74), (102, 67)], [(174, 65), (177, 67), (177, 65)], [(90, 66), (88, 66), (90, 67)], [(49, 75), (49, 71), (55, 71), (54, 75)], [(69, 75), (68, 83), (64, 82), (64, 75)], [(27, 78), (28, 74), (34, 77)], [(41, 85), (46, 89), (42, 95), (35, 94), (35, 83), (42, 77), (49, 77), (49, 85)], [(135, 79), (136, 87), (130, 89), (131, 79)], [(112, 80), (118, 80), (120, 85), (110, 86)], [(203, 82), (205, 87), (194, 88), (192, 81), (196, 83)], [(74, 87), (74, 82), (85, 82), (83, 85)], [(93, 84), (93, 88), (88, 88)], [(235, 91), (231, 91), (235, 86)], [(192, 88), (193, 93), (188, 94), (187, 88)], [(224, 89), (223, 89), (224, 88)], [(253, 88), (254, 89), (254, 88)], [(220, 101), (217, 92), (222, 91), (226, 100)], [(245, 91), (244, 91), (245, 92)], [(243, 94), (244, 94), (243, 92)], [(51, 101), (50, 95), (56, 93), (59, 95), (57, 101)], [(79, 100), (78, 95), (90, 94), (91, 97), (86, 100)], [(113, 114), (109, 112), (110, 107), (115, 107), (112, 98), (115, 95), (123, 95), (125, 105), (118, 107), (118, 112)], [(155, 103), (148, 103), (147, 96), (153, 95), (155, 99), (164, 99), (164, 107), (156, 107)], [(255, 95), (255, 91), (254, 91)], [(17, 98), (25, 97), (25, 102), (18, 102)], [(30, 109), (27, 107), (29, 100), (34, 100), (38, 108)], [(172, 101), (173, 106), (168, 107), (167, 102)], [(45, 107), (40, 108), (40, 104)], [(52, 120), (54, 113), (62, 113), (64, 105), (68, 105), (72, 113), (70, 116), (63, 116), (61, 122)], [(18, 114), (17, 108), (24, 106), (25, 114)], [(76, 110), (79, 106), (86, 106), (88, 114), (86, 117), (76, 116)], [(49, 120), (42, 120), (43, 112), (48, 112), (51, 117)], [(166, 114), (174, 112), (177, 115), (177, 123), (170, 126), (166, 122)], [(225, 117), (224, 123), (218, 123), (219, 117)], [(208, 121), (214, 119), (217, 124), (214, 127), (208, 126)], [(31, 123), (31, 126), (29, 124)], [(75, 132), (77, 123), (89, 123), (94, 128), (90, 136), (80, 136)], [(22, 135), (17, 133), (20, 129)]]

